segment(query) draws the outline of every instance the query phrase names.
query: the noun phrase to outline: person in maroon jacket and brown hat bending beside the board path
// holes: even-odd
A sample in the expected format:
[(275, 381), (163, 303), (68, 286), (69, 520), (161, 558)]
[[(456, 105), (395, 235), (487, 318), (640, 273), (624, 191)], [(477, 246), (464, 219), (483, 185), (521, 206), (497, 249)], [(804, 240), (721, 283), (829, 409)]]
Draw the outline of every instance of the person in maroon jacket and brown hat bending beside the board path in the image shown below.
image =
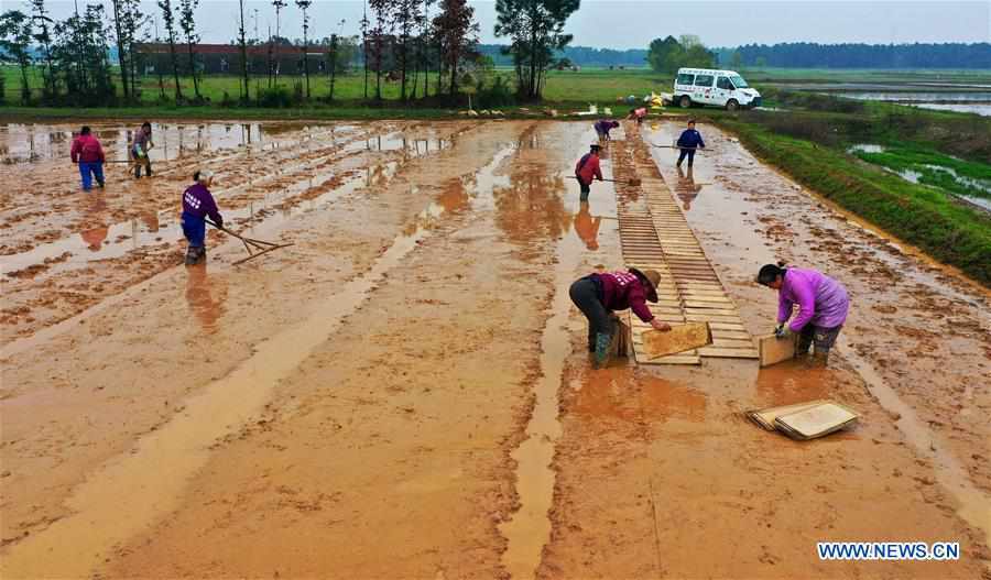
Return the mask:
[(609, 362), (617, 343), (619, 320), (613, 310), (631, 308), (633, 314), (654, 329), (671, 330), (651, 313), (646, 302), (657, 302), (657, 283), (661, 274), (654, 270), (641, 272), (635, 267), (628, 272), (595, 273), (575, 281), (568, 294), (575, 306), (588, 318), (588, 350), (593, 353), (592, 364), (600, 369)]

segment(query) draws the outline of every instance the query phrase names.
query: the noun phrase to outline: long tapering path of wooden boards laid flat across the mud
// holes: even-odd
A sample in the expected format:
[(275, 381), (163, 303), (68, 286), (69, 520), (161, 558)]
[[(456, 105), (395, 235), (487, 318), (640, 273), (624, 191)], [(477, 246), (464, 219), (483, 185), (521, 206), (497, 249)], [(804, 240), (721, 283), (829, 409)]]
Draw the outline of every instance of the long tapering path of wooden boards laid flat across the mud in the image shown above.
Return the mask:
[(611, 143), (610, 151), (618, 179), (641, 180), (638, 186), (617, 185), (617, 214), (627, 265), (661, 274), (658, 303), (651, 305), (651, 310), (672, 326), (707, 322), (711, 332), (707, 346), (656, 357), (643, 347), (643, 332), (650, 330), (650, 325), (631, 316), (636, 362), (699, 364), (700, 357), (759, 358), (737, 305), (706, 258), (640, 133), (629, 131), (625, 140)]

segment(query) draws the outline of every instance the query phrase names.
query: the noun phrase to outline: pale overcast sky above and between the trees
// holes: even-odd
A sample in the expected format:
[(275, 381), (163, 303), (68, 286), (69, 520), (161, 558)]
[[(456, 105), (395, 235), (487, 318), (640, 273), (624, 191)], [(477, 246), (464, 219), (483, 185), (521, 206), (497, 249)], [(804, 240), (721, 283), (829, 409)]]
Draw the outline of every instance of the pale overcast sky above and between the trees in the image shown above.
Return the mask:
[[(78, 2), (81, 7), (86, 0)], [(302, 37), (300, 11), (292, 0), (288, 3), (281, 18), (283, 35)], [(501, 42), (492, 33), (494, 0), (470, 3), (476, 7), (482, 42)], [(24, 2), (2, 0), (4, 9), (15, 4)], [(73, 10), (67, 0), (48, 0), (48, 4), (57, 18)], [(156, 11), (153, 1), (144, 6), (149, 13)], [(357, 33), (362, 6), (355, 0), (314, 0), (314, 35)], [(249, 36), (254, 36), (255, 9), (259, 35), (264, 37), (270, 24), (275, 28), (274, 10), (269, 1), (246, 0)], [(204, 42), (226, 43), (237, 35), (236, 0), (200, 0), (197, 14)], [(341, 19), (347, 22), (339, 28)], [(991, 0), (582, 0), (567, 31), (575, 35), (573, 44), (613, 48), (646, 47), (652, 39), (668, 34), (697, 34), (709, 46), (795, 41), (991, 42)]]

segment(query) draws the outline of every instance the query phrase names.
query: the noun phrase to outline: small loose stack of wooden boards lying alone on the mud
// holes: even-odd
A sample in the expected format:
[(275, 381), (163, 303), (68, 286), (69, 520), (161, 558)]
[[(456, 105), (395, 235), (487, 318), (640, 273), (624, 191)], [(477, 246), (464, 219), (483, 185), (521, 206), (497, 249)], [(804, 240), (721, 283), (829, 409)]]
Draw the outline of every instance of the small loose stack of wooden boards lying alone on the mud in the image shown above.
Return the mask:
[(832, 401), (754, 409), (744, 415), (769, 431), (777, 430), (803, 441), (849, 427), (859, 418), (857, 413)]

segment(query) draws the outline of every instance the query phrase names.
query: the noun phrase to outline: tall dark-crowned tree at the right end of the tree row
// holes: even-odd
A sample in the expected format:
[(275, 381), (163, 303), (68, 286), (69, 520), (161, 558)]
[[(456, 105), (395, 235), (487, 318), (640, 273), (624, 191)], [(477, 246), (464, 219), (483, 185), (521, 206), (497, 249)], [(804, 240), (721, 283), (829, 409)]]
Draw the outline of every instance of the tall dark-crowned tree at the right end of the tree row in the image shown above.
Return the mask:
[(579, 6), (580, 0), (496, 0), (496, 35), (511, 40), (509, 52), (522, 97), (541, 98), (555, 51), (571, 42), (564, 28)]

